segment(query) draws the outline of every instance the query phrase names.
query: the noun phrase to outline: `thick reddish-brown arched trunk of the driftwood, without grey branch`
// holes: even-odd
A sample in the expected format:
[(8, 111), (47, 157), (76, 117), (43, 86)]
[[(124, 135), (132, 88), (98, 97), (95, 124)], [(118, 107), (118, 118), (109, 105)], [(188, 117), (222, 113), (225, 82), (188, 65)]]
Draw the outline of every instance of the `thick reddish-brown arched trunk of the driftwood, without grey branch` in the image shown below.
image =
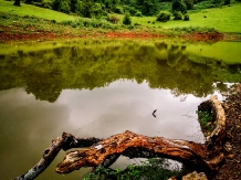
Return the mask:
[(69, 173), (82, 167), (96, 167), (109, 156), (123, 153), (128, 148), (143, 148), (159, 156), (208, 169), (214, 169), (206, 161), (206, 146), (185, 140), (147, 137), (126, 130), (83, 150), (69, 152), (57, 165), (56, 172)]

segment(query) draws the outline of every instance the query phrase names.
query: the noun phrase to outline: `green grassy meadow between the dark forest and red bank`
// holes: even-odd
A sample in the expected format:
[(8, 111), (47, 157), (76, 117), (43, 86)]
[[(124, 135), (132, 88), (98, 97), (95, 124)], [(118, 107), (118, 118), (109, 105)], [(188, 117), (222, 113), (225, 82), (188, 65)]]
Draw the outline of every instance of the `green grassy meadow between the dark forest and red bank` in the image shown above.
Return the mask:
[[(203, 1), (208, 2), (208, 1)], [(170, 4), (169, 2), (167, 4)], [(167, 6), (168, 10), (170, 6)], [(108, 17), (119, 19), (117, 24), (113, 24), (102, 19), (90, 19), (66, 14), (50, 9), (39, 8), (31, 4), (21, 3), (21, 7), (13, 6), (13, 1), (0, 0), (0, 25), (11, 25), (18, 21), (20, 27), (38, 27), (38, 30), (53, 31), (61, 33), (63, 30), (70, 33), (77, 33), (80, 29), (106, 31), (149, 31), (155, 33), (180, 34), (192, 31), (241, 33), (241, 2), (231, 1), (230, 6), (219, 8), (198, 9), (188, 11), (190, 20), (174, 20), (167, 22), (156, 21), (156, 17), (130, 17), (132, 24), (123, 25), (124, 14), (108, 13)], [(1, 14), (8, 14), (1, 15)], [(14, 17), (15, 15), (15, 17)], [(3, 18), (2, 18), (3, 17)], [(14, 18), (13, 18), (14, 17)], [(35, 19), (35, 20), (33, 20)], [(33, 22), (34, 21), (34, 22)], [(97, 28), (97, 29), (96, 29)], [(170, 31), (164, 31), (170, 30)], [(0, 29), (0, 31), (2, 31)]]

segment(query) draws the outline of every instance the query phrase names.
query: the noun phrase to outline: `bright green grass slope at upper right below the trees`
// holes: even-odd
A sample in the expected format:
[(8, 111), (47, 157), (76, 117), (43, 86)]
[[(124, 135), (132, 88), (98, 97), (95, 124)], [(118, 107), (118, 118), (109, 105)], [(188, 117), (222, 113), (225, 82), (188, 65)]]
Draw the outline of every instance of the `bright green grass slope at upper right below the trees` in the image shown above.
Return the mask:
[[(142, 25), (172, 29), (176, 27), (206, 27), (214, 28), (219, 32), (237, 32), (241, 33), (241, 3), (231, 3), (231, 7), (223, 6), (222, 8), (213, 8), (201, 10), (197, 13), (190, 13), (190, 21), (157, 22), (156, 17), (133, 17), (133, 23)], [(203, 17), (207, 18), (203, 18)]]

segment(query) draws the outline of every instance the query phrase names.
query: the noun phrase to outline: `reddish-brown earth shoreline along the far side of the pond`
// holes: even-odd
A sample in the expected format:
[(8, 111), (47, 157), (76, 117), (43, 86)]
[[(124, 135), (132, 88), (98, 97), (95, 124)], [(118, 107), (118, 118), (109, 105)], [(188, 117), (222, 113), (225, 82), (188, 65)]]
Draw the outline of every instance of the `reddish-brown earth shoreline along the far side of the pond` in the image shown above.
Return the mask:
[(239, 33), (219, 33), (213, 32), (198, 32), (193, 31), (187, 32), (176, 32), (176, 31), (159, 31), (159, 32), (148, 32), (134, 30), (125, 31), (106, 31), (99, 32), (99, 30), (81, 30), (78, 34), (73, 32), (64, 32), (61, 34), (49, 32), (49, 31), (31, 31), (31, 32), (17, 32), (12, 33), (11, 29), (8, 27), (0, 27), (3, 32), (0, 32), (0, 43), (11, 43), (11, 42), (28, 42), (28, 41), (52, 41), (52, 40), (71, 40), (71, 39), (83, 39), (83, 38), (108, 38), (108, 39), (170, 39), (178, 38), (182, 40), (188, 40), (192, 42), (218, 42), (218, 41), (241, 41), (241, 34)]

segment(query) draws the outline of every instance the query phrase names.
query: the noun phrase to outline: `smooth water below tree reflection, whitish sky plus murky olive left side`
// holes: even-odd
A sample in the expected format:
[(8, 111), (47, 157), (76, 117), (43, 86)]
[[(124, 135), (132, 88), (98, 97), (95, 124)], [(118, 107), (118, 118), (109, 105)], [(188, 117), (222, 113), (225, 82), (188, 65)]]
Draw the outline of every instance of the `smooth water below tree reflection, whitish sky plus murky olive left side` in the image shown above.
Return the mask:
[[(65, 89), (53, 104), (35, 100), (23, 88), (1, 91), (1, 174), (10, 179), (27, 171), (38, 162), (51, 139), (63, 131), (78, 137), (108, 137), (132, 130), (202, 141), (195, 112), (205, 99), (192, 95), (182, 99), (174, 97), (169, 89), (151, 89), (146, 82), (132, 81), (117, 81), (93, 91)], [(156, 118), (151, 115), (155, 109)], [(63, 178), (54, 172), (62, 158), (59, 156), (38, 179)], [(76, 179), (80, 173), (72, 177)]]

